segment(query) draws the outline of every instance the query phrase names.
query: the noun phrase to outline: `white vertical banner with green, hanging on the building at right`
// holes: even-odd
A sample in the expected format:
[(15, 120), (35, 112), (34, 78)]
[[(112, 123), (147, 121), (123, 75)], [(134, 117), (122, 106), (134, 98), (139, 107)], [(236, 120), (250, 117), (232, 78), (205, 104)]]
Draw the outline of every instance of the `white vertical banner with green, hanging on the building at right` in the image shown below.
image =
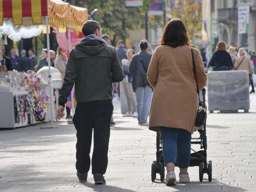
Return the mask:
[(248, 33), (250, 7), (238, 7), (238, 33)]

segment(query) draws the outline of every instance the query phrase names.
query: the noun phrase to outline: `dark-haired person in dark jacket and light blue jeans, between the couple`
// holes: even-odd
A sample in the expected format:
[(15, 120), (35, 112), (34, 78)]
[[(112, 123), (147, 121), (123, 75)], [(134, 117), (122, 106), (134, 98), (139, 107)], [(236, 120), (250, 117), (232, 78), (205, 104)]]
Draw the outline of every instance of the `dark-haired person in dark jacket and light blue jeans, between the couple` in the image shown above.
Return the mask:
[(132, 74), (132, 84), (136, 93), (138, 124), (148, 126), (147, 117), (153, 89), (149, 86), (147, 81), (147, 70), (152, 54), (147, 52), (147, 40), (140, 41), (139, 47), (141, 52), (132, 57), (129, 72)]

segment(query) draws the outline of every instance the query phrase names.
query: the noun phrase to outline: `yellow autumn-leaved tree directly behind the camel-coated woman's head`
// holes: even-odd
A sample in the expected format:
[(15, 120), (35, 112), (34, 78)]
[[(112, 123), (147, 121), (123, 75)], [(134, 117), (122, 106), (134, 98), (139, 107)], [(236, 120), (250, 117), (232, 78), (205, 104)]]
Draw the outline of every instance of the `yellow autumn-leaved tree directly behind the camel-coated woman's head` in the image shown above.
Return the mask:
[(195, 42), (200, 38), (202, 30), (202, 6), (199, 2), (191, 0), (179, 0), (173, 11), (171, 12), (173, 18), (180, 18), (185, 23), (188, 31), (188, 35)]

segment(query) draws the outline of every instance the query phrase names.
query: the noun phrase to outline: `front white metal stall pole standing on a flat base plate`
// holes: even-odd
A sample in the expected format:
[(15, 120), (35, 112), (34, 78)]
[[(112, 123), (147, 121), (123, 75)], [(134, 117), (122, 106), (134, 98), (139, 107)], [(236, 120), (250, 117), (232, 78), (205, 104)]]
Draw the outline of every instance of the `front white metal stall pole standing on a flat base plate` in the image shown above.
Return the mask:
[[(48, 4), (47, 4), (48, 6)], [(47, 128), (57, 128), (58, 126), (54, 126), (53, 124), (53, 94), (52, 94), (52, 76), (51, 76), (51, 58), (50, 58), (50, 37), (49, 37), (49, 22), (48, 16), (46, 18), (46, 40), (47, 40), (47, 54), (48, 54), (48, 77), (49, 77), (49, 88), (50, 88), (50, 116), (51, 116), (51, 126), (50, 127), (40, 127), (40, 129), (47, 129)]]

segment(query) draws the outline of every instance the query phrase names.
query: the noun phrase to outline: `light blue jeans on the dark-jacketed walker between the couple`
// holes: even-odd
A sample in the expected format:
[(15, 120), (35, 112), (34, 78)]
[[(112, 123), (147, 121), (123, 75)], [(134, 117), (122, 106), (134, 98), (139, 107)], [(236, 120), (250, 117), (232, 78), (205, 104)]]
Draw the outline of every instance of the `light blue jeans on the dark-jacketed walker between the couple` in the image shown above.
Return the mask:
[(152, 88), (149, 86), (137, 87), (135, 93), (137, 100), (138, 121), (139, 123), (146, 123), (153, 93)]

